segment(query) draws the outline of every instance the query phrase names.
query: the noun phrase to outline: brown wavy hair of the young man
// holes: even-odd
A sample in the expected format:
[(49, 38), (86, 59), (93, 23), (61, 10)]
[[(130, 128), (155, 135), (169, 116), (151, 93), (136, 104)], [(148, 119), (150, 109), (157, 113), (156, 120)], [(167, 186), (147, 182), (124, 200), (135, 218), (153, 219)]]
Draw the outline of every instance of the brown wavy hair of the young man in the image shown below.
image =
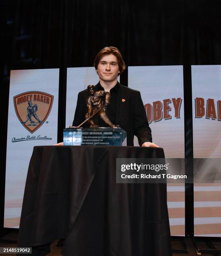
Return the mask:
[(120, 72), (119, 74), (121, 74), (126, 69), (126, 65), (123, 61), (120, 51), (117, 49), (117, 47), (114, 47), (114, 46), (104, 47), (103, 49), (101, 49), (99, 51), (99, 53), (96, 55), (96, 57), (94, 59), (95, 69), (97, 70), (98, 64), (99, 64), (102, 56), (104, 56), (106, 54), (113, 54), (114, 56), (116, 56), (117, 63), (119, 66), (119, 72)]

